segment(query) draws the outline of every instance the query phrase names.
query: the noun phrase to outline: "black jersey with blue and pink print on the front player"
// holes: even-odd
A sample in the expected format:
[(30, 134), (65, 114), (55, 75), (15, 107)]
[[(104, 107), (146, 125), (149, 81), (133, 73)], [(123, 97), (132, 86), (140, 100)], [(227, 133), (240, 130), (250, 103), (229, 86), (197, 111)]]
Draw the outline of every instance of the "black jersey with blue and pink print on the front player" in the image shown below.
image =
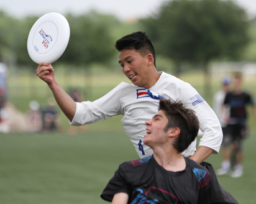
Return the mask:
[(129, 204), (211, 203), (209, 171), (184, 157), (183, 171), (166, 171), (154, 157), (124, 162), (100, 195), (112, 201), (116, 193), (127, 193)]

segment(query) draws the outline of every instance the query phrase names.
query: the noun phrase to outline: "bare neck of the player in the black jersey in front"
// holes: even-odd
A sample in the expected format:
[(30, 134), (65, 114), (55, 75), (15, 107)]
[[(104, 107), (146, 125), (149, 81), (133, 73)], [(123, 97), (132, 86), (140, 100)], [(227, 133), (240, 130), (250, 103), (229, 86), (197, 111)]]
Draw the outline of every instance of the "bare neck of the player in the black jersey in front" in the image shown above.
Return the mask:
[(166, 149), (168, 150), (154, 149), (153, 157), (157, 164), (167, 171), (183, 171), (186, 168), (186, 161), (181, 153), (177, 152), (176, 149), (170, 149), (170, 147)]

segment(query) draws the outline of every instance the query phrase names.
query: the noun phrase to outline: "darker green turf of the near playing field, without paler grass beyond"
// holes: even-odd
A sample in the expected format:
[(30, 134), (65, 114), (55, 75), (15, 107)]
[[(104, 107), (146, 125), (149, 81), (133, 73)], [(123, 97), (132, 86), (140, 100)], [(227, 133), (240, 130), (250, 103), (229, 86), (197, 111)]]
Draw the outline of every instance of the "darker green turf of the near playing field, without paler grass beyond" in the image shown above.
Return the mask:
[[(245, 141), (244, 176), (219, 177), (240, 204), (255, 204), (253, 131)], [(8, 204), (106, 203), (100, 193), (118, 165), (138, 156), (124, 132), (0, 135), (0, 198)], [(207, 160), (215, 169), (220, 156)]]

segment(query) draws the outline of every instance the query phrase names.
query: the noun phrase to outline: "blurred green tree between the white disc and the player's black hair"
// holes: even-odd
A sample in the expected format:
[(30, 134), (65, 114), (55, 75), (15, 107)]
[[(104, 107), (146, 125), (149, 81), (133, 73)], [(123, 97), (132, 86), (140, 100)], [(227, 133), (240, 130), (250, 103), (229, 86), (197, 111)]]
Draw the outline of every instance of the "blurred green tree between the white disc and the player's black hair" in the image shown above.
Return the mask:
[[(108, 20), (95, 12), (79, 17), (67, 16), (70, 39), (61, 61), (73, 64), (106, 63), (115, 53)], [(115, 19), (114, 19), (115, 20)]]

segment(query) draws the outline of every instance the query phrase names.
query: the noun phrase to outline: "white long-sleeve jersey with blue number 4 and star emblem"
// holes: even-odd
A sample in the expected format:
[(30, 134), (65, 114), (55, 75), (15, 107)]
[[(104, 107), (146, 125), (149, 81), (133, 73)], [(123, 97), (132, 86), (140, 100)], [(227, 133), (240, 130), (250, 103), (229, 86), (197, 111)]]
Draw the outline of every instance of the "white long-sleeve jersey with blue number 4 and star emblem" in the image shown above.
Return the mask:
[[(153, 154), (153, 150), (143, 144), (146, 135), (145, 121), (157, 113), (159, 98), (180, 100), (184, 106), (196, 112), (200, 130), (204, 133), (199, 146), (206, 146), (218, 153), (222, 142), (220, 122), (212, 108), (188, 83), (164, 72), (150, 89), (125, 82), (117, 85), (103, 97), (90, 102), (76, 103), (76, 113), (71, 125), (79, 126), (106, 120), (114, 115), (123, 115), (124, 130), (133, 143), (140, 158)], [(196, 140), (182, 152), (185, 157), (196, 151)]]

